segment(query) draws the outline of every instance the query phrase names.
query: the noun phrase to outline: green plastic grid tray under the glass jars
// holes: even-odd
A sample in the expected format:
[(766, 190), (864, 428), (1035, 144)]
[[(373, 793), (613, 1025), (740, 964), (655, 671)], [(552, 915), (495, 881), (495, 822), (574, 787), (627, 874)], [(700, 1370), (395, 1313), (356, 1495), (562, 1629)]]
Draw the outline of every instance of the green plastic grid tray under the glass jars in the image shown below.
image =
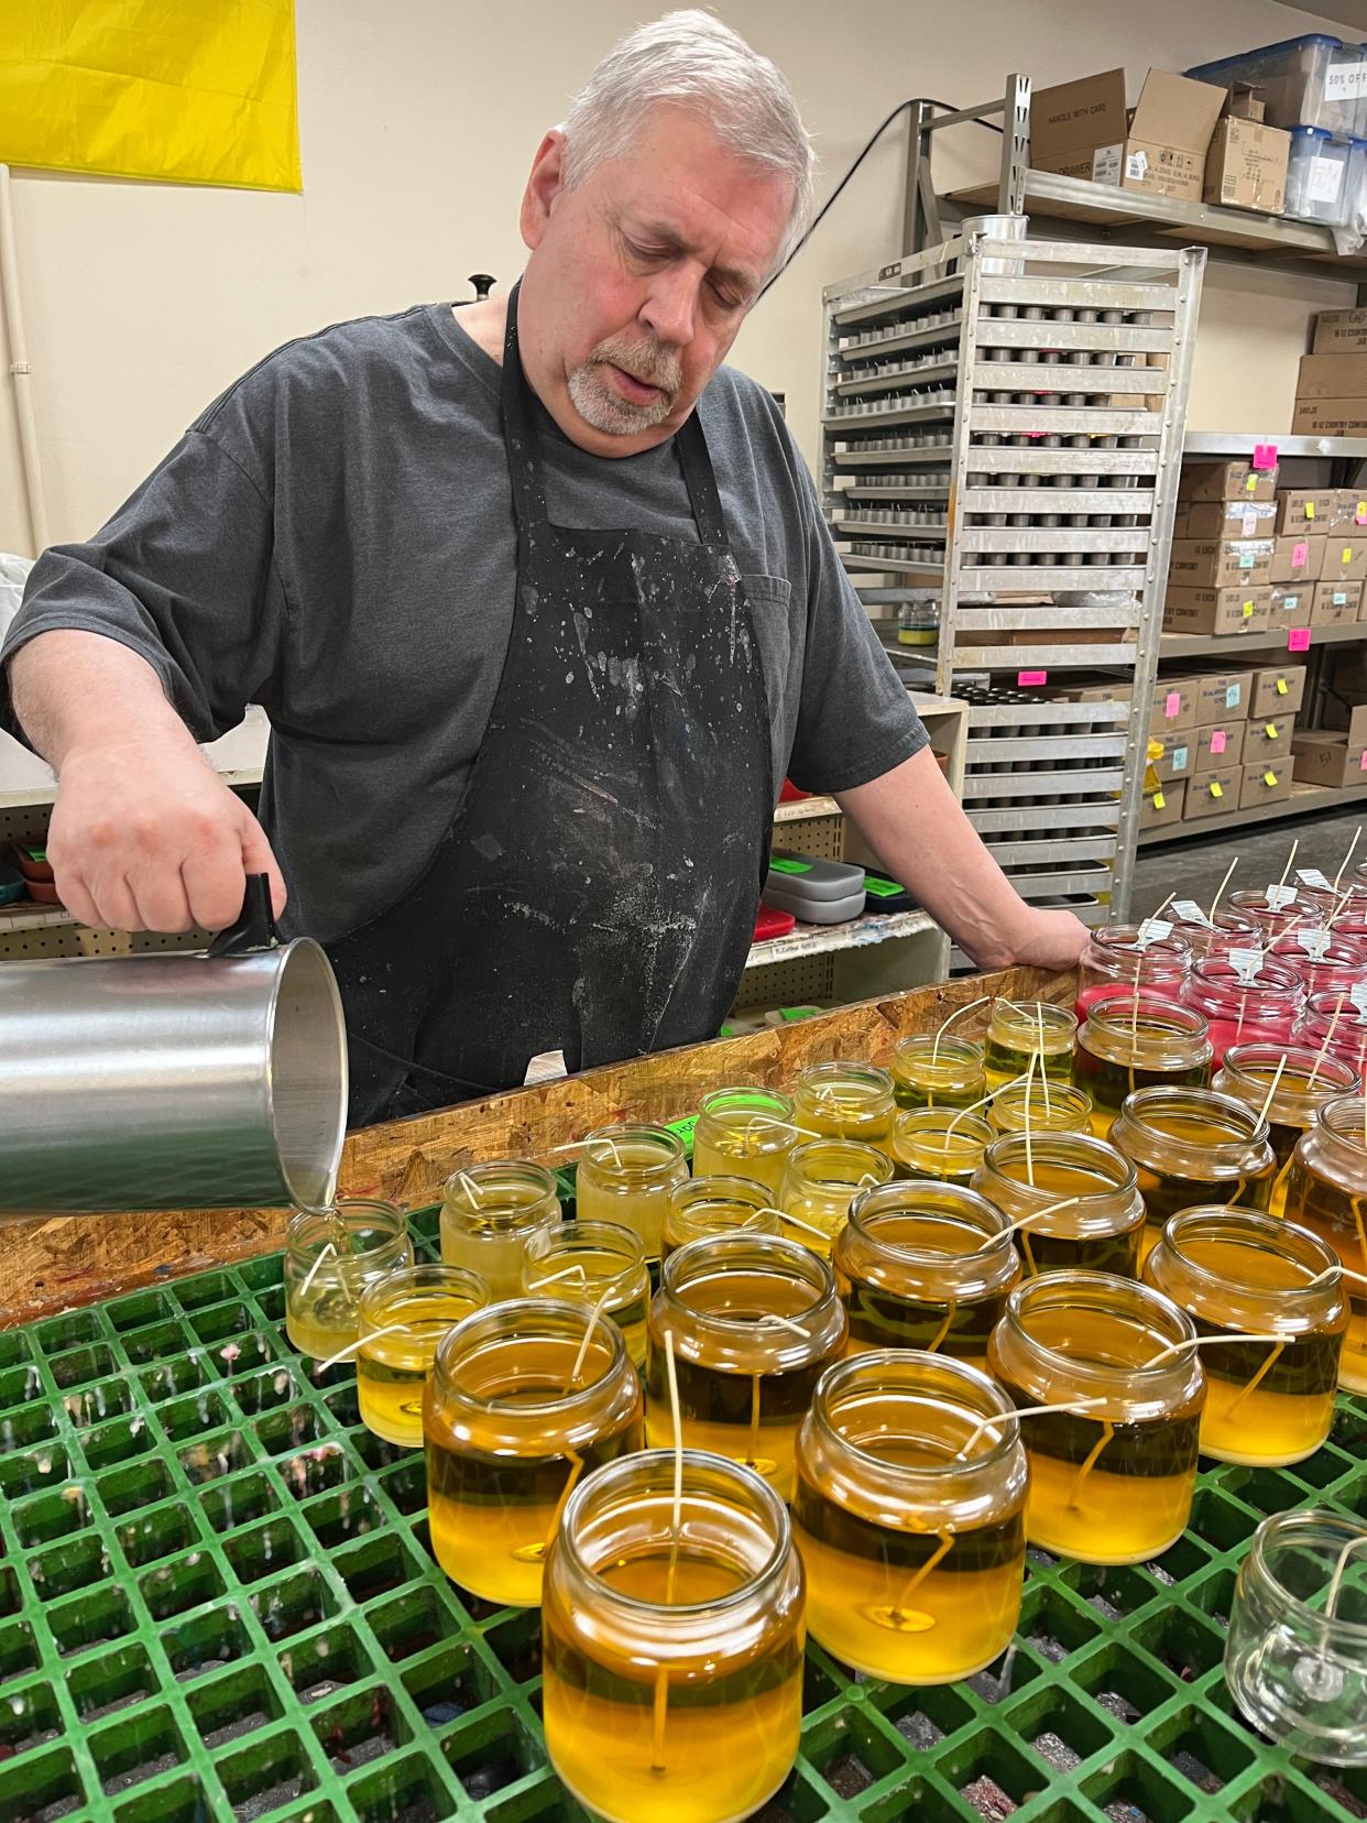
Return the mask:
[[(414, 1218), (434, 1254), (436, 1212)], [(428, 1553), (419, 1453), (284, 1338), (281, 1258), (0, 1331), (0, 1823), (549, 1823), (540, 1617)], [(1234, 1714), (1234, 1570), (1267, 1513), (1367, 1517), (1367, 1402), (1296, 1469), (1203, 1466), (1161, 1560), (1032, 1551), (1021, 1633), (966, 1684), (807, 1661), (766, 1823), (1310, 1823), (1367, 1772)]]

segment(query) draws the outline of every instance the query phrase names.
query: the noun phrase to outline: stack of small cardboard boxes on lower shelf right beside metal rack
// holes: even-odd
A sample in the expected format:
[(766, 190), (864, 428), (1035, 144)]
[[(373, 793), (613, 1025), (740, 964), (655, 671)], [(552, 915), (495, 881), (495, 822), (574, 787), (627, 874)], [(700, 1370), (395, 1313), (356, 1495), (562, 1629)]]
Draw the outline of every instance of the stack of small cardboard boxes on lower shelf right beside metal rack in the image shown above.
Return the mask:
[(1183, 671), (1159, 678), (1150, 709), (1157, 778), (1141, 829), (1196, 822), (1290, 797), (1305, 665)]

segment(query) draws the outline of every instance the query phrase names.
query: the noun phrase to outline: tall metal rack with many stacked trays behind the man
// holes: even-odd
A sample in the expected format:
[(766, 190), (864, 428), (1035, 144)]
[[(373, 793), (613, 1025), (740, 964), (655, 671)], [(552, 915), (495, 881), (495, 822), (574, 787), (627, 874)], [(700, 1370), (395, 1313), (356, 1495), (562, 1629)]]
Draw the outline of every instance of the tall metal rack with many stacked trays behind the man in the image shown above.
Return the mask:
[[(826, 288), (824, 507), (895, 660), (971, 704), (982, 839), (1024, 897), (1105, 922), (1130, 890), (1205, 253), (1023, 228)], [(899, 645), (891, 616), (928, 596), (935, 647)], [(1114, 693), (1079, 700), (1095, 671)]]

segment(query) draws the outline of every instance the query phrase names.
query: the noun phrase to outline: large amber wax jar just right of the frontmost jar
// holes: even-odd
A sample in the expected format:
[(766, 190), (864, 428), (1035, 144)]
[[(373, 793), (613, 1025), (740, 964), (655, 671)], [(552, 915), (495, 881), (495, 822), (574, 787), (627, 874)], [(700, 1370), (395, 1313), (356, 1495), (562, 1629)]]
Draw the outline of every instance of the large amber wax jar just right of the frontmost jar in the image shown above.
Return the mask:
[(899, 1684), (992, 1664), (1021, 1615), (1026, 1480), (1012, 1402), (979, 1369), (915, 1349), (831, 1367), (797, 1446), (811, 1637)]

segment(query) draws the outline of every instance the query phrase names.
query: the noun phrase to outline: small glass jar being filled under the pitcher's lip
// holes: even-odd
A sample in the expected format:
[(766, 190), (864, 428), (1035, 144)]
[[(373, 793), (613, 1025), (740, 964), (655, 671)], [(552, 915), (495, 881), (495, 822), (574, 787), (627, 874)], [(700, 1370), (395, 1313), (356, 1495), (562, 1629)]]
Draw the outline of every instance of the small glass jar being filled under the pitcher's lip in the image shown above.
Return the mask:
[(284, 1231), (284, 1333), (301, 1354), (332, 1360), (361, 1336), (361, 1296), (414, 1263), (408, 1218), (394, 1203), (344, 1196), (299, 1209)]

